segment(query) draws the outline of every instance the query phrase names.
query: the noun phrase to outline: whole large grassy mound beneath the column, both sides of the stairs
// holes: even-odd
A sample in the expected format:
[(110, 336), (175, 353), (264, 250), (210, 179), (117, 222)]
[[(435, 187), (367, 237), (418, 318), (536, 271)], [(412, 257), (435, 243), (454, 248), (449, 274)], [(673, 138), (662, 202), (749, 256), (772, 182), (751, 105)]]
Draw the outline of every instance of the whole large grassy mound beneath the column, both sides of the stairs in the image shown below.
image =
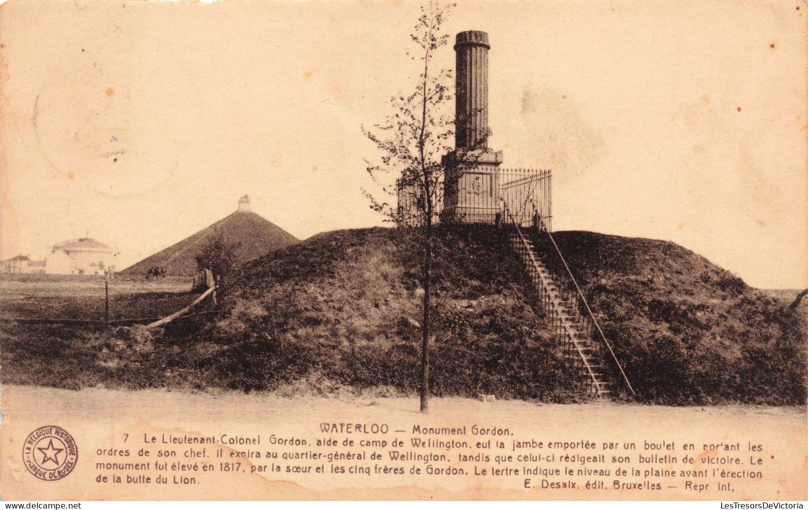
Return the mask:
[[(672, 242), (554, 235), (639, 400), (806, 402), (804, 310)], [(209, 354), (194, 373), (244, 390), (292, 383), (415, 392), (419, 253), (405, 230), (339, 230), (246, 263), (216, 322), (195, 337)], [(439, 229), (434, 275), (436, 394), (574, 398), (502, 234)]]

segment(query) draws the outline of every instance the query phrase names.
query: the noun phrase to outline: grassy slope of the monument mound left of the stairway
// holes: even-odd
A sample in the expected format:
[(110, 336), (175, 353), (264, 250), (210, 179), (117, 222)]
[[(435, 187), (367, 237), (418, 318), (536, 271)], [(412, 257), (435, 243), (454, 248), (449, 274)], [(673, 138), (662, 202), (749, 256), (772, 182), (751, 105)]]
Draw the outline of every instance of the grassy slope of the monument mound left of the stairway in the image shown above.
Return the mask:
[[(436, 247), (431, 387), (568, 401), (571, 374), (496, 232), (442, 231)], [(316, 373), (417, 390), (420, 245), (401, 230), (342, 230), (249, 263), (210, 334), (232, 346), (205, 364), (231, 388), (273, 389)]]

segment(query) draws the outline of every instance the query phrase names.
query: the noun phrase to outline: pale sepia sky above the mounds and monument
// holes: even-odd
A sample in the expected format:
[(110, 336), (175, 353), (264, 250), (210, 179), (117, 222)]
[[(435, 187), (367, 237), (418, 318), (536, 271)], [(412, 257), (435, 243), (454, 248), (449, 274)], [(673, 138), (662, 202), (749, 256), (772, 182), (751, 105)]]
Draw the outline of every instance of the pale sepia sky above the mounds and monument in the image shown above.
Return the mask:
[[(361, 127), (418, 75), (418, 15), (6, 2), (0, 256), (89, 233), (129, 265), (244, 194), (298, 238), (382, 225)], [(553, 169), (553, 228), (671, 240), (750, 285), (804, 288), (806, 16), (786, 0), (457, 2), (445, 30), (489, 33), (490, 146)], [(453, 67), (451, 44), (436, 65)]]

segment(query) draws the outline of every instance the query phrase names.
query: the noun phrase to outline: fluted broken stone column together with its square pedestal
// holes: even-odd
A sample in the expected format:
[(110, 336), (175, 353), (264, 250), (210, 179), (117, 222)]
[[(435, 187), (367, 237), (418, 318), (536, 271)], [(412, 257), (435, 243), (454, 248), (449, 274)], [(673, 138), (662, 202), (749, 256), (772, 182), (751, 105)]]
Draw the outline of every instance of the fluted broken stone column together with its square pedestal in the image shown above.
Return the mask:
[(457, 34), (455, 150), (443, 158), (444, 219), (493, 223), (500, 213), (501, 150), (488, 148), (488, 34)]

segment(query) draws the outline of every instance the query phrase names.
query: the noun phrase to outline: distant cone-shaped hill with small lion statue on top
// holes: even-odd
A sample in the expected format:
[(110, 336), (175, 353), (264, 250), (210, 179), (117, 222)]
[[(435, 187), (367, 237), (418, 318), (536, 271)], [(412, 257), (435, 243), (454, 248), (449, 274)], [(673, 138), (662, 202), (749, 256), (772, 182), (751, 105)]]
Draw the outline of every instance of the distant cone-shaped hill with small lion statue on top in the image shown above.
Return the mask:
[(298, 239), (271, 221), (250, 211), (237, 211), (209, 225), (176, 244), (158, 251), (121, 271), (124, 275), (142, 276), (150, 268), (166, 269), (167, 276), (196, 274), (196, 255), (211, 238), (222, 235), (225, 242), (238, 242), (236, 261), (244, 263), (271, 251), (288, 247)]

